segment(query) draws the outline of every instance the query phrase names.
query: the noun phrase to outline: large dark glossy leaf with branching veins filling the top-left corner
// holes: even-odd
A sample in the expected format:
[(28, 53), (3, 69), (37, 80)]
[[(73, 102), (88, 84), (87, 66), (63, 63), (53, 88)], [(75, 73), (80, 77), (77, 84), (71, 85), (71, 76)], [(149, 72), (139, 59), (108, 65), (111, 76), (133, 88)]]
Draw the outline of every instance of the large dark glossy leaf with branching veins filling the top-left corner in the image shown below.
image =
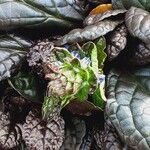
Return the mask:
[(0, 2), (0, 8), (1, 30), (70, 28), (83, 19), (85, 11), (75, 0), (7, 0)]

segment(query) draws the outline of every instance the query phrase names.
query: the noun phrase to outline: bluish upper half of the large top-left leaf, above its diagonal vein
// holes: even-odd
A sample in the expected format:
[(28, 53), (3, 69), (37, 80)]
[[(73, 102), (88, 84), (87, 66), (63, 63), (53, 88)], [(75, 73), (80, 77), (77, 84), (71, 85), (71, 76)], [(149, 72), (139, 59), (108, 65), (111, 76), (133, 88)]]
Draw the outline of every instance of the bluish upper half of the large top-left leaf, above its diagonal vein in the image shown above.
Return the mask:
[(83, 10), (74, 0), (25, 0), (25, 2), (57, 18), (83, 19)]

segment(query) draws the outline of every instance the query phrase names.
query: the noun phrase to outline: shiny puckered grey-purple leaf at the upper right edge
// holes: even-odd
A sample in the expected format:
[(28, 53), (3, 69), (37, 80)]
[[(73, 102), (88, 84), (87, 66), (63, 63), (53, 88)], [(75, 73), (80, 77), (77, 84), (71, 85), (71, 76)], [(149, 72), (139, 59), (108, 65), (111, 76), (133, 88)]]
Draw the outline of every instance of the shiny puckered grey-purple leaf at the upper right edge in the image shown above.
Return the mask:
[(131, 7), (125, 17), (130, 34), (142, 40), (150, 48), (150, 13), (140, 8)]

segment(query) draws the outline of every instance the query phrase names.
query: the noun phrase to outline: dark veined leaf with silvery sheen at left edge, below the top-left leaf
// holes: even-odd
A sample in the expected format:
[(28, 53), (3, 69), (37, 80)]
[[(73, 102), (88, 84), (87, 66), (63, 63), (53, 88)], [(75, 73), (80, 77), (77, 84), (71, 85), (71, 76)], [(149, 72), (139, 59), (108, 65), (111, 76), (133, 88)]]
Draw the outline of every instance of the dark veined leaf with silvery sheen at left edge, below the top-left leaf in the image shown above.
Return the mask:
[(20, 68), (30, 46), (31, 42), (18, 36), (0, 36), (0, 81)]

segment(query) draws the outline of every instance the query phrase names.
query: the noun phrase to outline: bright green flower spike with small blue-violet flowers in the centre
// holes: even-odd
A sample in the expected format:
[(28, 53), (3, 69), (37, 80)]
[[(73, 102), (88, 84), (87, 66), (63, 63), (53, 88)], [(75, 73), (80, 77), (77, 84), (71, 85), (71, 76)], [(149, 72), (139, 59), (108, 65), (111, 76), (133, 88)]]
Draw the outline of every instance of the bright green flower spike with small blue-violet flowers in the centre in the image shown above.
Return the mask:
[(103, 62), (105, 40), (89, 42), (77, 51), (54, 47), (43, 63), (45, 77), (49, 80), (47, 95), (43, 103), (43, 116), (52, 117), (70, 101), (83, 102), (92, 97), (92, 102), (103, 109), (104, 80)]

